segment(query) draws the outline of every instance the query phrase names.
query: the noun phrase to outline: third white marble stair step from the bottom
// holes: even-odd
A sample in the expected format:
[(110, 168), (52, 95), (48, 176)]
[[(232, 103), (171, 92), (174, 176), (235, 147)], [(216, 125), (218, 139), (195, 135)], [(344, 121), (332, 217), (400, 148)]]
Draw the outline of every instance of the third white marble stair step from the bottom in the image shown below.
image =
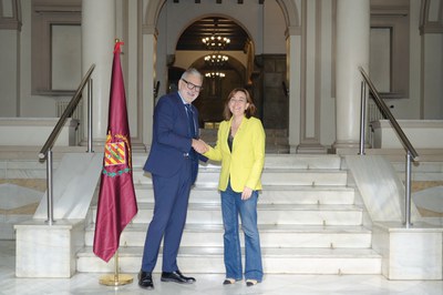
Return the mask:
[[(133, 223), (148, 223), (153, 216), (153, 203), (138, 204)], [(305, 224), (305, 225), (361, 225), (362, 210), (356, 205), (293, 205), (258, 204), (259, 224)], [(92, 210), (95, 222), (96, 206)], [(220, 206), (216, 204), (189, 204), (189, 224), (222, 224)]]

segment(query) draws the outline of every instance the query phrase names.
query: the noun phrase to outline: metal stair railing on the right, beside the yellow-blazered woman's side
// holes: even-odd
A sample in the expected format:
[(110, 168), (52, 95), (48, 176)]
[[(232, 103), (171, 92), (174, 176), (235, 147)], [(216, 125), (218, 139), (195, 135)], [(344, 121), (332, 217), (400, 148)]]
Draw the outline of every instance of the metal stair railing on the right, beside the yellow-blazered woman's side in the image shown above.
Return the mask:
[(364, 154), (364, 125), (365, 125), (365, 85), (369, 87), (369, 91), (372, 94), (373, 101), (375, 105), (379, 108), (380, 112), (388, 119), (391, 123), (392, 128), (394, 129), (395, 133), (399, 135), (400, 141), (403, 148), (406, 151), (406, 167), (405, 167), (405, 210), (404, 210), (404, 224), (406, 228), (412, 226), (411, 223), (411, 160), (418, 161), (419, 154), (416, 153), (415, 149), (412, 146), (411, 142), (409, 141), (408, 136), (404, 134), (403, 130), (400, 128), (399, 123), (396, 122), (395, 118), (392, 115), (391, 111), (389, 110), (388, 105), (384, 101), (380, 98), (379, 92), (377, 91), (375, 87), (373, 85), (371, 79), (369, 79), (368, 74), (364, 72), (363, 68), (359, 67), (360, 73), (362, 74), (364, 82), (362, 82), (362, 90), (361, 90), (361, 114), (360, 114), (360, 154)]

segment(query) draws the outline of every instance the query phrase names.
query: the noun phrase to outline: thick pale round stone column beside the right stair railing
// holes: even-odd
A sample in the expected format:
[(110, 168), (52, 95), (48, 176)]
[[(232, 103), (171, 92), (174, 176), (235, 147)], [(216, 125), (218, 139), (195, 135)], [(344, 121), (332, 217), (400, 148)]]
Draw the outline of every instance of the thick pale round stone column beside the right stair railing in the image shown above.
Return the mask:
[(337, 139), (334, 149), (359, 148), (361, 74), (368, 72), (370, 0), (337, 0)]

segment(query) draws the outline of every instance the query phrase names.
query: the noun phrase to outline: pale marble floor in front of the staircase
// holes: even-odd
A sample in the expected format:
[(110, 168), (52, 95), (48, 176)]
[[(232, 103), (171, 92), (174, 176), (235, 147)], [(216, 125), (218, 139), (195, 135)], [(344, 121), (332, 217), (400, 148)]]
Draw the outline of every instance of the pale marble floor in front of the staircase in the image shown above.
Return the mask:
[[(99, 283), (103, 274), (76, 274), (72, 278), (17, 278), (14, 275), (14, 241), (0, 241), (0, 294), (164, 294), (164, 295), (236, 295), (236, 294), (443, 294), (443, 281), (388, 281), (378, 275), (265, 275), (264, 282), (254, 287), (244, 283), (223, 286), (222, 274), (195, 274), (197, 283), (178, 285), (159, 282), (155, 274), (155, 289), (132, 284), (110, 287)], [(135, 278), (135, 274), (134, 275)]]

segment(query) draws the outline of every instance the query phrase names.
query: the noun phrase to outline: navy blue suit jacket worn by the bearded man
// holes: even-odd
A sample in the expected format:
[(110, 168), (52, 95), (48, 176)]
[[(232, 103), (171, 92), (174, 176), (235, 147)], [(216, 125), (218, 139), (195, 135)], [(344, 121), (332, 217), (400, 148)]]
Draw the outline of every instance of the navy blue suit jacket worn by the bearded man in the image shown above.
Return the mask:
[[(198, 111), (192, 105), (198, 132)], [(192, 157), (192, 184), (198, 173), (198, 157), (192, 149), (192, 136), (185, 105), (178, 92), (163, 95), (154, 110), (153, 140), (144, 171), (161, 176), (172, 176)]]

